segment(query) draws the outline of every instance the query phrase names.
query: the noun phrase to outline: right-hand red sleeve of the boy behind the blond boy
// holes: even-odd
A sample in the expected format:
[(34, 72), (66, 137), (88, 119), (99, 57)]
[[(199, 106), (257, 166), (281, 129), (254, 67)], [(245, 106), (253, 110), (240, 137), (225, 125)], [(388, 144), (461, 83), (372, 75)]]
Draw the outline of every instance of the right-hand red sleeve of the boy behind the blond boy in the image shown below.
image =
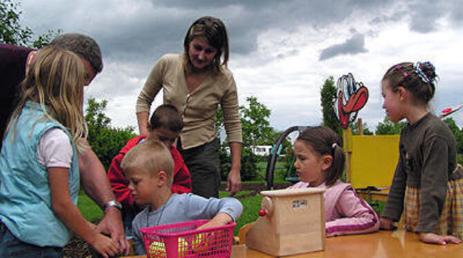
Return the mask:
[(171, 155), (173, 157), (173, 183), (172, 192), (182, 194), (191, 192), (191, 175), (183, 161), (180, 152), (172, 145)]

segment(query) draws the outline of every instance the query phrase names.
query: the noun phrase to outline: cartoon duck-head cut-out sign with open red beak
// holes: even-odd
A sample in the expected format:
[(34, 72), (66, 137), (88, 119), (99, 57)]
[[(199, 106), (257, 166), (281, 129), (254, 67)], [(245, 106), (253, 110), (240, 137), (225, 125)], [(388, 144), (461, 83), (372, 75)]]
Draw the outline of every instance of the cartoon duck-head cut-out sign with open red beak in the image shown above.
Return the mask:
[(346, 129), (349, 123), (355, 121), (366, 101), (368, 101), (368, 89), (363, 83), (356, 82), (350, 72), (338, 79), (334, 110), (337, 112), (341, 128)]

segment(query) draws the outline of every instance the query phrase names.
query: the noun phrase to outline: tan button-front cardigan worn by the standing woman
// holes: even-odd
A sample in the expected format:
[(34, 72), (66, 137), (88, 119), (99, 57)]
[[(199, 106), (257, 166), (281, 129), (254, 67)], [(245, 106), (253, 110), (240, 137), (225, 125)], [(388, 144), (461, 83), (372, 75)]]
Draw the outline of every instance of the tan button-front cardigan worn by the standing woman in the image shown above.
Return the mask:
[(183, 149), (200, 146), (216, 137), (218, 104), (222, 106), (228, 141), (243, 142), (236, 83), (227, 68), (223, 67), (221, 74), (208, 77), (189, 93), (182, 55), (165, 54), (151, 70), (138, 96), (136, 112), (149, 112), (161, 88), (164, 103), (176, 106), (184, 116), (184, 127), (180, 134)]

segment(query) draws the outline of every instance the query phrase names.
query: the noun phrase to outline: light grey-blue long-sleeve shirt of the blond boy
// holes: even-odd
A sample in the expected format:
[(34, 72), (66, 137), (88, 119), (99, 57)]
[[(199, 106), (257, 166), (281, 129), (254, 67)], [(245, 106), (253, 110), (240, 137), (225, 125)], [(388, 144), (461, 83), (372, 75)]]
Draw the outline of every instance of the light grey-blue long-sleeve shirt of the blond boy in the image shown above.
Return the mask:
[(173, 194), (167, 202), (157, 210), (144, 208), (132, 221), (133, 250), (136, 255), (145, 255), (143, 236), (140, 228), (173, 224), (196, 219), (212, 219), (218, 213), (229, 215), (234, 221), (243, 212), (243, 205), (238, 199), (225, 197), (222, 199), (205, 199), (199, 195)]

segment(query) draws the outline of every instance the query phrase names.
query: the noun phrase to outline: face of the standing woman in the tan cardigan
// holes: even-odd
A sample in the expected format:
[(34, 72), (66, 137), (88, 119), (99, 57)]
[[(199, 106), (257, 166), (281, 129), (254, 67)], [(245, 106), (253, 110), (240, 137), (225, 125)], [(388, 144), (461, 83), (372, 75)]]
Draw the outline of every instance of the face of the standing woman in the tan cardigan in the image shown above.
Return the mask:
[(193, 67), (202, 70), (211, 65), (217, 50), (207, 43), (205, 37), (195, 37), (189, 43), (188, 55)]

